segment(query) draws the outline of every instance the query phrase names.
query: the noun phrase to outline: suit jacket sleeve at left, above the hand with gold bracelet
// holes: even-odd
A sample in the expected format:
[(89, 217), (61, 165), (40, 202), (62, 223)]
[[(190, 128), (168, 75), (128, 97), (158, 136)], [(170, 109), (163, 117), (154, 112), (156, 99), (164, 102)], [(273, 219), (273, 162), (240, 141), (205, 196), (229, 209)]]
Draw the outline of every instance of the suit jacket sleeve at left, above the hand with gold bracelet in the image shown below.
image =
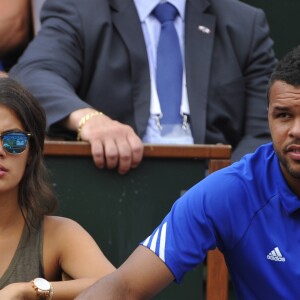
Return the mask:
[[(28, 45), (9, 75), (39, 100), (47, 114), (47, 125), (51, 126), (88, 105), (76, 94), (83, 80), (84, 46), (81, 42), (78, 45), (80, 29), (74, 28), (78, 24), (70, 26), (75, 18), (73, 5), (70, 8), (65, 5), (66, 1), (56, 3), (57, 6), (52, 4), (55, 1), (49, 2), (45, 2), (49, 4), (44, 17), (51, 22), (45, 22), (43, 30)], [(59, 14), (61, 11), (64, 13)]]

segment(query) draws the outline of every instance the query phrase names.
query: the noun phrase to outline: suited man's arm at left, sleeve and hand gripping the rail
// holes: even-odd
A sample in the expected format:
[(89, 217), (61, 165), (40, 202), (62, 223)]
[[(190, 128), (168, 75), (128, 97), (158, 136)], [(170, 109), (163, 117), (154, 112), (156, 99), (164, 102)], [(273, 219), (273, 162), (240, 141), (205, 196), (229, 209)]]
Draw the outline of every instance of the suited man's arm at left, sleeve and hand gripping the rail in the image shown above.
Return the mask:
[[(39, 100), (48, 127), (60, 123), (76, 132), (80, 119), (95, 111), (78, 95), (82, 80), (88, 80), (83, 78), (83, 69), (91, 68), (84, 60), (86, 31), (74, 1), (46, 1), (41, 16), (38, 36), (10, 76)], [(90, 47), (97, 48), (96, 41), (93, 45)], [(121, 174), (136, 167), (143, 157), (142, 141), (132, 128), (104, 115), (86, 122), (81, 139), (91, 144), (98, 167), (117, 167)]]

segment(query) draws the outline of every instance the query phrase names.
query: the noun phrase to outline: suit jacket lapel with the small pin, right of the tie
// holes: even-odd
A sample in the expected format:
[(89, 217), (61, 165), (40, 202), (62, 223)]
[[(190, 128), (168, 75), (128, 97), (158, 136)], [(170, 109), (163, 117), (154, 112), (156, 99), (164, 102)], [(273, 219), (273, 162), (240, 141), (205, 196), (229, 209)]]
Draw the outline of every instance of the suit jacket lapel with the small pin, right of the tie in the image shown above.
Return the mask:
[(206, 0), (187, 0), (185, 12), (185, 67), (195, 143), (205, 142), (207, 94), (215, 37), (215, 17), (204, 13), (208, 6)]

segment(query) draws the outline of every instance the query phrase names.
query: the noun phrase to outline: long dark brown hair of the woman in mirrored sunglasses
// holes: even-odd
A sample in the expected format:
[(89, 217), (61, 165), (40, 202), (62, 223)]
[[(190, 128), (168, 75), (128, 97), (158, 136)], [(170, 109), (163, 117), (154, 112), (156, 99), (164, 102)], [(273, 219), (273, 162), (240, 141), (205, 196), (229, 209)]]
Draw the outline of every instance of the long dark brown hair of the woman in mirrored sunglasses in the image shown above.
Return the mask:
[(29, 227), (37, 227), (45, 215), (57, 208), (57, 199), (50, 187), (43, 162), (46, 117), (35, 98), (18, 82), (0, 78), (0, 105), (12, 110), (29, 139), (28, 163), (19, 184), (19, 205)]

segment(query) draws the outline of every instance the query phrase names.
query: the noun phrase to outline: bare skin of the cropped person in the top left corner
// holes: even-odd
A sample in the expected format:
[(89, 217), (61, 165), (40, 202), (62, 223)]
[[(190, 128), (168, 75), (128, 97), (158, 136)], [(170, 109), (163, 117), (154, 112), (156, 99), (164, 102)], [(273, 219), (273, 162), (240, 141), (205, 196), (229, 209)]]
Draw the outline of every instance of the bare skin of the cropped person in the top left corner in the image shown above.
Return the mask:
[(30, 0), (0, 0), (0, 56), (30, 40)]

